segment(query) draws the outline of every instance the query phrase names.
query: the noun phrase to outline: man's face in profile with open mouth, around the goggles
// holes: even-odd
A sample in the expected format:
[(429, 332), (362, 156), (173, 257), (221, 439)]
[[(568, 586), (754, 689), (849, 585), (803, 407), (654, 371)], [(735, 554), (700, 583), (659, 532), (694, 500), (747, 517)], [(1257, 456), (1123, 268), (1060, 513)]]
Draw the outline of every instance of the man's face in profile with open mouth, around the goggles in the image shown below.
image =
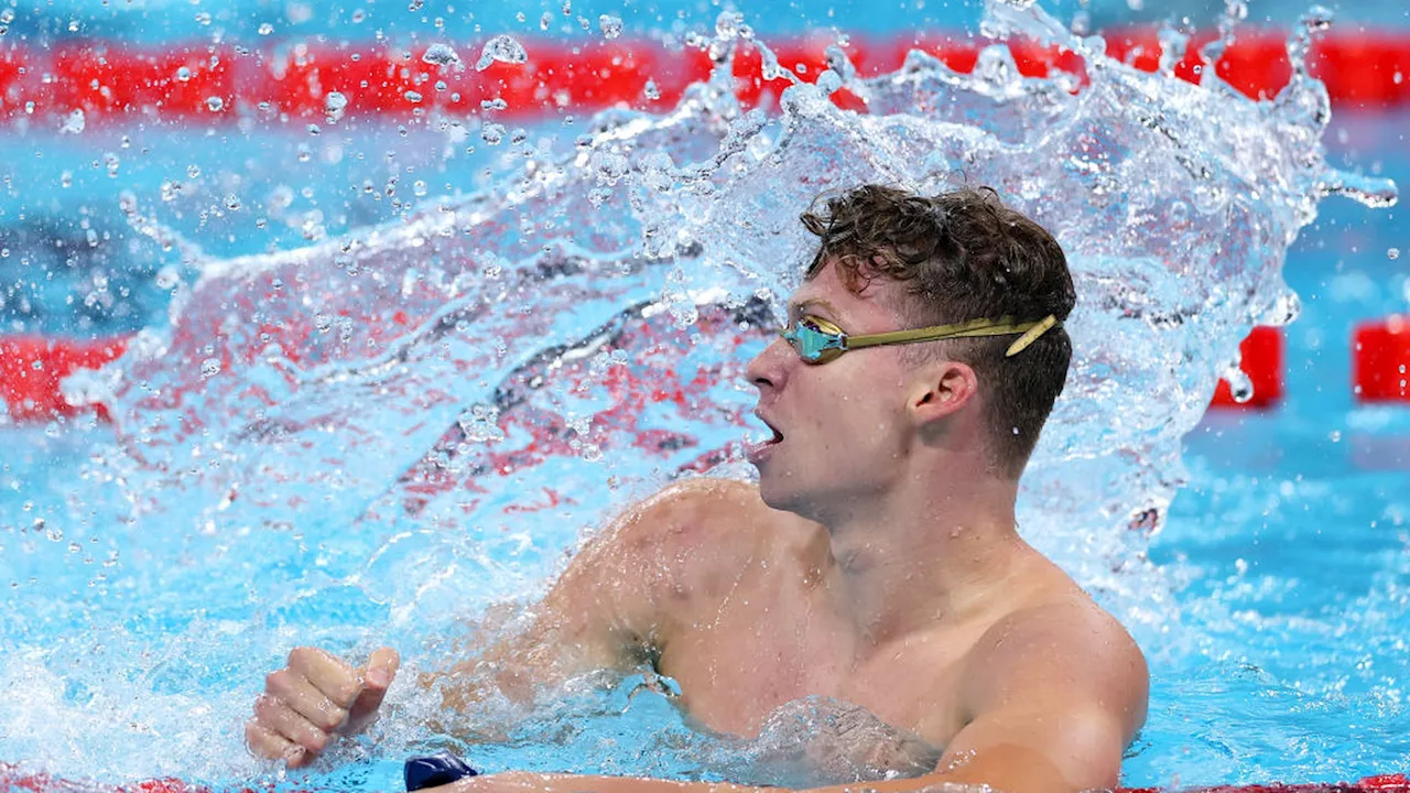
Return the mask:
[[(853, 293), (828, 265), (794, 293), (788, 320), (815, 315), (853, 334), (897, 330), (893, 289), (900, 286), (878, 278)], [(914, 382), (895, 347), (808, 364), (776, 339), (747, 374), (759, 388), (756, 413), (774, 430), (750, 453), (770, 507), (821, 519), (833, 505), (895, 481), (912, 437), (905, 408)]]

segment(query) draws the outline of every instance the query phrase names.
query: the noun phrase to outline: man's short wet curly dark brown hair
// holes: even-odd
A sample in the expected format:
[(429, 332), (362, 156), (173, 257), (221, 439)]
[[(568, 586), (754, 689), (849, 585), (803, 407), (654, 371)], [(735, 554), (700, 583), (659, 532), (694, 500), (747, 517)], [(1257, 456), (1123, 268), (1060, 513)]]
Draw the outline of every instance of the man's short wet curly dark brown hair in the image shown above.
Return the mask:
[[(821, 205), (821, 206), (819, 206)], [(802, 214), (821, 240), (805, 278), (828, 264), (847, 289), (874, 278), (905, 285), (895, 305), (908, 327), (1012, 316), (1067, 319), (1077, 301), (1067, 258), (1042, 226), (1004, 206), (991, 188), (919, 196), (880, 185), (823, 193)], [(1017, 478), (1067, 381), (1072, 339), (1055, 327), (1014, 357), (1012, 336), (901, 347), (911, 361), (943, 354), (974, 370), (984, 389), (991, 463)]]

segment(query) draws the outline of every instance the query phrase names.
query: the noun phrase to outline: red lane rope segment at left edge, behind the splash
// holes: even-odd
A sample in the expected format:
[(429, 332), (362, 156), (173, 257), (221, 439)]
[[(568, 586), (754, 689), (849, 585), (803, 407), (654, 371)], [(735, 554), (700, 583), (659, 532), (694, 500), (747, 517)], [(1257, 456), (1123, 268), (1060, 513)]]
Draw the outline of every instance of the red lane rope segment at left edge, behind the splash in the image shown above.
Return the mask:
[[(79, 368), (99, 368), (123, 354), (127, 339), (79, 341), (17, 336), (0, 339), (0, 398), (16, 422), (72, 416), (80, 408), (63, 399), (59, 382)], [(107, 411), (99, 405), (99, 416)]]

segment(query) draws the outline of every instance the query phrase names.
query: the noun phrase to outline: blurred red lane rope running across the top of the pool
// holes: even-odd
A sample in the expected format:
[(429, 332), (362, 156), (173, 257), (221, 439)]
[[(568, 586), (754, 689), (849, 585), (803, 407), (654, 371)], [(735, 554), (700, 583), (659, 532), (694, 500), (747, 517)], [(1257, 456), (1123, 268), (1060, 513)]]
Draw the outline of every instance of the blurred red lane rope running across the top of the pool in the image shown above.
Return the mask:
[[(1153, 72), (1160, 41), (1153, 28), (1101, 34), (1107, 54)], [(1207, 71), (1201, 55), (1215, 38), (1203, 31), (1175, 65), (1176, 76), (1198, 82)], [(1251, 97), (1270, 97), (1292, 73), (1287, 34), (1275, 28), (1238, 32), (1215, 62), (1215, 72)], [(317, 38), (247, 48), (192, 41), (137, 48), (116, 40), (58, 40), (39, 48), (0, 48), (0, 120), (55, 133), (89, 124), (261, 121), (337, 123), (381, 119), (415, 123), (430, 111), (498, 120), (587, 113), (625, 106), (673, 107), (692, 82), (711, 71), (706, 52), (650, 40), (522, 40), (523, 62), (492, 61), (477, 69), (482, 44), (465, 45), (457, 59), (444, 51), (426, 59), (427, 47)], [(832, 35), (768, 38), (780, 63), (805, 80), (825, 68)], [(907, 52), (921, 49), (959, 72), (973, 71), (984, 41), (962, 31), (907, 32), (891, 38), (850, 37), (843, 47), (863, 76), (893, 72)], [(1048, 76), (1081, 75), (1083, 61), (1053, 47), (1010, 41), (1018, 71)], [(1331, 30), (1313, 45), (1308, 63), (1334, 104), (1385, 111), (1410, 106), (1410, 30)], [(764, 80), (760, 51), (740, 42), (735, 56), (736, 92), (749, 106), (770, 104), (787, 86)], [(330, 99), (330, 95), (338, 96)], [(838, 104), (864, 111), (847, 90)], [(482, 104), (484, 103), (484, 104)], [(501, 106), (503, 103), (503, 106)], [(331, 109), (331, 111), (330, 111)], [(82, 124), (75, 124), (82, 111)]]

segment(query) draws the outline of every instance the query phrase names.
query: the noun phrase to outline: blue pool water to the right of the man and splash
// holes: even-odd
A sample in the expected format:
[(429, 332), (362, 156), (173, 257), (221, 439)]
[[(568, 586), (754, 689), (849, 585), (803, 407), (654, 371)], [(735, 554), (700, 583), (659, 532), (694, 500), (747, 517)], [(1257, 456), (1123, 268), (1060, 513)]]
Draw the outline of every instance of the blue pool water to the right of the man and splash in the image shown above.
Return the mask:
[[(1358, 157), (1410, 175), (1404, 117), (1345, 124)], [(1410, 308), (1387, 255), (1407, 238), (1396, 214), (1324, 206), (1285, 271), (1303, 312), (1283, 402), (1211, 412), (1186, 436), (1190, 480), (1151, 557), (1176, 571), (1182, 621), (1207, 645), (1179, 673), (1155, 667), (1135, 779), (1290, 780), (1318, 758), (1331, 768), (1299, 780), (1406, 769), (1410, 409), (1356, 405), (1349, 344), (1355, 323)]]

